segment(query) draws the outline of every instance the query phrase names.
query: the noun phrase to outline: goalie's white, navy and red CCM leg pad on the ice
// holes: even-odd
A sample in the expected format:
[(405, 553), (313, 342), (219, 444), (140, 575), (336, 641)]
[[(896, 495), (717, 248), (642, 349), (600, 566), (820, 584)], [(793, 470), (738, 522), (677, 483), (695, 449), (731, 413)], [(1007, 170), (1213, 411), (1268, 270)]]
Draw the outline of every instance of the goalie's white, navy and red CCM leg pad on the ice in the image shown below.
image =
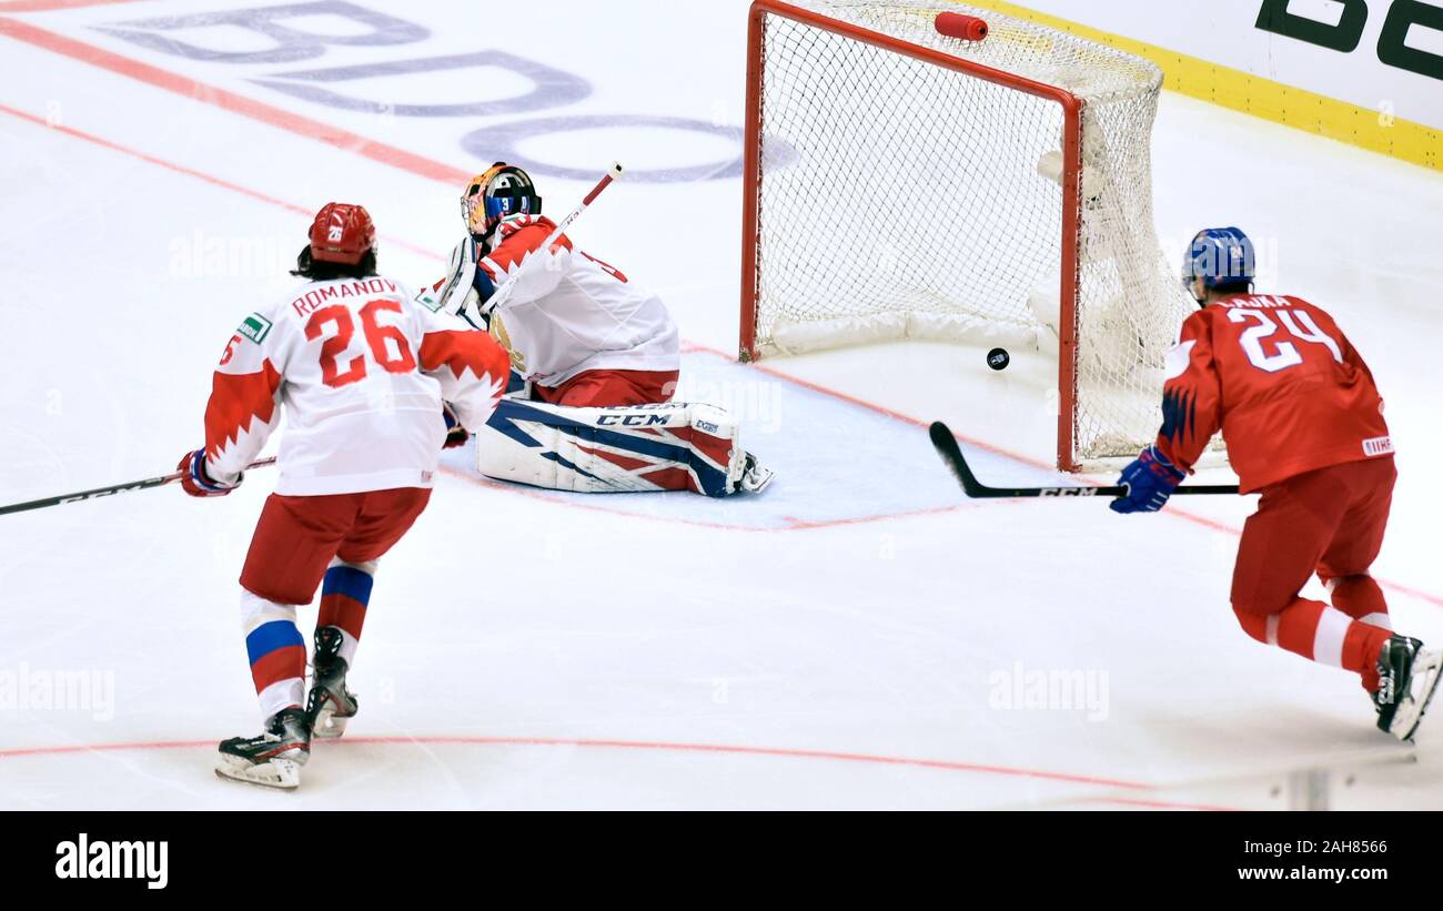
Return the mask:
[(570, 408), (502, 399), (476, 434), (476, 467), (504, 481), (579, 493), (742, 487), (737, 422), (714, 405)]

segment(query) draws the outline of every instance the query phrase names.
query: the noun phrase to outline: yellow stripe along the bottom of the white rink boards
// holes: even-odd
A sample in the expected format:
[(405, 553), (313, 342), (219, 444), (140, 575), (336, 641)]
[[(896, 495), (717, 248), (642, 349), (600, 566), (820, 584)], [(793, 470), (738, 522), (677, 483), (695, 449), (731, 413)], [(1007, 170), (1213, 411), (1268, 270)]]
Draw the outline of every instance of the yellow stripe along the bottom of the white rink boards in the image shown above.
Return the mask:
[(1163, 86), (1170, 91), (1443, 172), (1443, 131), (1440, 130), (1254, 76), (1186, 53), (1038, 13), (1006, 0), (964, 1), (968, 6), (1027, 19), (1147, 58), (1163, 69)]

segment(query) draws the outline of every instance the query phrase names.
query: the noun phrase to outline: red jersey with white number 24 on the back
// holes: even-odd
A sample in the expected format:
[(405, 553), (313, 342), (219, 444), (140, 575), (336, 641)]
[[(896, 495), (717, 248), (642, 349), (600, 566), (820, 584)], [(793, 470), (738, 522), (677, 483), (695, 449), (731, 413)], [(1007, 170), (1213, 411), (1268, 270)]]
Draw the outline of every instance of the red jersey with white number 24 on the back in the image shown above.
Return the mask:
[(1219, 428), (1242, 493), (1392, 453), (1368, 365), (1297, 297), (1237, 294), (1183, 323), (1157, 448), (1190, 471)]

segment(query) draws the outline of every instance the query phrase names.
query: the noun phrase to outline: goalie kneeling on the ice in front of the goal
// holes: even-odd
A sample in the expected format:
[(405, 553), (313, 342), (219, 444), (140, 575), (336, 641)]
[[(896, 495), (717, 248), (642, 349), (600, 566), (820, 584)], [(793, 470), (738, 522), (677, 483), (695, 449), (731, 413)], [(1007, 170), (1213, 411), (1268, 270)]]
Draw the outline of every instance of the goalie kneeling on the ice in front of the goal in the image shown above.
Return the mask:
[[(519, 167), (466, 185), (466, 238), (417, 300), (485, 327), (511, 352), (508, 395), (476, 434), (498, 480), (583, 493), (758, 493), (772, 480), (724, 409), (674, 402), (677, 324), (655, 294), (576, 249)], [(548, 239), (551, 242), (548, 242)], [(455, 428), (449, 443), (460, 445)]]

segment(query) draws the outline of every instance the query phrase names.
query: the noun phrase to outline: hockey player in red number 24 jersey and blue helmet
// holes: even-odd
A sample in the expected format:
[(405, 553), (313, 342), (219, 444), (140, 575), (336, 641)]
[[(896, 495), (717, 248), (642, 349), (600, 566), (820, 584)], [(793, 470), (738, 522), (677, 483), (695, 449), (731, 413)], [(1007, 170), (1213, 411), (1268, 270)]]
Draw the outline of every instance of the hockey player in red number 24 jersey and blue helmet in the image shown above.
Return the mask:
[[(1440, 653), (1395, 636), (1368, 568), (1382, 546), (1392, 441), (1372, 373), (1328, 313), (1253, 293), (1253, 244), (1198, 234), (1183, 283), (1202, 307), (1169, 353), (1157, 443), (1123, 470), (1120, 513), (1156, 512), (1221, 430), (1242, 493), (1261, 493), (1232, 577), (1248, 636), (1358, 673), (1378, 726), (1413, 737)], [(1332, 604), (1302, 597), (1317, 574)]]

